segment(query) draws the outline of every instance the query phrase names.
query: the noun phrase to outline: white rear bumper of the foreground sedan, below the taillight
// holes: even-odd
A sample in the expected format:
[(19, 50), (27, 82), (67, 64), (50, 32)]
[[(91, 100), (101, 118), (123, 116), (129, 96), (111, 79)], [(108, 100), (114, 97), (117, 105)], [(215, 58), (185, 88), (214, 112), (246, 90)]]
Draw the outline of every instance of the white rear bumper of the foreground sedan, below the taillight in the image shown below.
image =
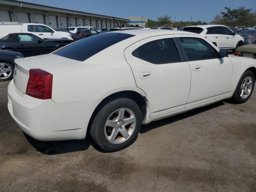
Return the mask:
[(90, 117), (101, 100), (55, 103), (20, 96), (13, 81), (8, 85), (8, 110), (18, 126), (37, 140), (84, 139)]

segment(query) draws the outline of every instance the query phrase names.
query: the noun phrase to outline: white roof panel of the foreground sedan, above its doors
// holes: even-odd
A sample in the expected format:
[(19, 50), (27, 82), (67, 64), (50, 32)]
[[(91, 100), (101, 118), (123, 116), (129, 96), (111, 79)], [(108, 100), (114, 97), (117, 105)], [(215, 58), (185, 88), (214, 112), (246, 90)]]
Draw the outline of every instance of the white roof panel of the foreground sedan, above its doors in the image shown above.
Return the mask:
[[(156, 30), (151, 30), (151, 29), (136, 30), (136, 29), (132, 29), (132, 30), (111, 31), (109, 33), (116, 33), (116, 32), (131, 34), (131, 35), (135, 35), (135, 36), (145, 36), (145, 37), (147, 37), (147, 36), (158, 36), (158, 35), (172, 35), (172, 34), (193, 34), (193, 35), (195, 35), (195, 33), (187, 32), (187, 31), (168, 30), (168, 29), (156, 29)], [(198, 34), (196, 34), (196, 35), (198, 35)]]

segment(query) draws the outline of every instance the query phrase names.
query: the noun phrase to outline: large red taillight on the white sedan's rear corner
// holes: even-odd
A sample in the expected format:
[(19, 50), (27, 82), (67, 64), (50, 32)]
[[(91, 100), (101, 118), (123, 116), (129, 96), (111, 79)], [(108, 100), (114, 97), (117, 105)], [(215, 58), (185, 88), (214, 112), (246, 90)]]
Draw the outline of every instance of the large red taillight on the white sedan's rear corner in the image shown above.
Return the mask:
[(51, 99), (52, 77), (44, 70), (30, 69), (26, 94), (38, 99)]

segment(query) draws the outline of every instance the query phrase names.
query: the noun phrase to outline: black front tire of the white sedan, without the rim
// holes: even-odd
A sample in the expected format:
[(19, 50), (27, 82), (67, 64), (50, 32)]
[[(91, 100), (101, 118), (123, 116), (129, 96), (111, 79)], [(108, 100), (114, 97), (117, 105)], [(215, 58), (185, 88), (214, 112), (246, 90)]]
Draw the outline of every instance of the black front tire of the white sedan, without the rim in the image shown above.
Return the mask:
[[(252, 78), (252, 88), (251, 88), (250, 94), (246, 98), (242, 98), (241, 95), (240, 95), (241, 94), (241, 86), (242, 86), (242, 83), (243, 83), (244, 79), (248, 76)], [(235, 104), (241, 104), (241, 103), (246, 102), (250, 98), (250, 96), (252, 95), (254, 85), (255, 85), (254, 73), (252, 71), (244, 72), (244, 74), (242, 74), (242, 77), (240, 78), (240, 80), (239, 80), (239, 82), (236, 86), (236, 90), (235, 90), (235, 92), (234, 92), (234, 94), (233, 94), (233, 96), (230, 100)]]

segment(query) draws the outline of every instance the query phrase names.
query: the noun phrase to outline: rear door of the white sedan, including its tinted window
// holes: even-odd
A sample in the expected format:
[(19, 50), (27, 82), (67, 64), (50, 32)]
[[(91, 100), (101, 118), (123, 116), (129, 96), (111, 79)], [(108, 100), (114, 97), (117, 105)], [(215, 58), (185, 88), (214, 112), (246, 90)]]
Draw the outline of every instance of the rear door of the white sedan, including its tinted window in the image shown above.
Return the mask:
[(150, 118), (184, 109), (190, 89), (190, 66), (173, 35), (140, 40), (125, 49), (136, 85), (148, 96)]

